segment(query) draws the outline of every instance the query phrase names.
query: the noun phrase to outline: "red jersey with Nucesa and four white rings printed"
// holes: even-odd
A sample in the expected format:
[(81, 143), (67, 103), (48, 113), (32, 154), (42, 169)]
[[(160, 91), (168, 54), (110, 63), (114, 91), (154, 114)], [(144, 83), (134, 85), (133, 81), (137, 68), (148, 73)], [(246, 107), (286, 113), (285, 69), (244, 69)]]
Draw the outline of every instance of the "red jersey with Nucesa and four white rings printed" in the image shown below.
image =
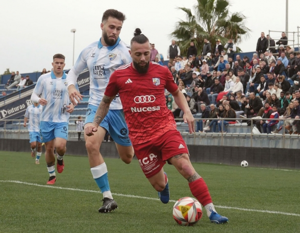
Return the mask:
[(166, 66), (151, 63), (140, 74), (132, 63), (120, 66), (110, 76), (104, 95), (119, 93), (132, 144), (141, 144), (176, 128), (173, 113), (167, 108), (164, 89), (175, 92), (178, 86)]

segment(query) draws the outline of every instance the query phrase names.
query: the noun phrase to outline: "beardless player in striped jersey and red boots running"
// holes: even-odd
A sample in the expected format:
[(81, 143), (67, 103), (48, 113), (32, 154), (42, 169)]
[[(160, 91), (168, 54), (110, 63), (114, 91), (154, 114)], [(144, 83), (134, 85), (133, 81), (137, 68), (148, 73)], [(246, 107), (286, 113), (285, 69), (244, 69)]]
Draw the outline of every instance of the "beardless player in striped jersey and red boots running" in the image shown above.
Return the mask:
[(46, 147), (45, 159), (50, 176), (48, 185), (53, 185), (56, 181), (54, 148), (57, 152), (57, 171), (61, 173), (64, 169), (63, 156), (68, 139), (69, 117), (74, 110), (74, 105), (69, 104), (66, 74), (63, 71), (64, 60), (62, 54), (53, 56), (53, 70), (40, 76), (31, 95), (32, 102), (42, 106), (40, 137)]

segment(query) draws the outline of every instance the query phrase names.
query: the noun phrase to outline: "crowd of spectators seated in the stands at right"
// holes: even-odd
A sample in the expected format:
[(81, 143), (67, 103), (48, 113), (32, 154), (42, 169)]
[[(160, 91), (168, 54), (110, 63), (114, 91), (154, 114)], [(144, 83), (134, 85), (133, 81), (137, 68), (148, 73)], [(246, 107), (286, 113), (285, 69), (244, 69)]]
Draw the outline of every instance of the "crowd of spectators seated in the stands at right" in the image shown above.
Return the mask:
[[(277, 46), (277, 45), (278, 46)], [(245, 122), (254, 130), (279, 133), (285, 121), (290, 134), (300, 134), (300, 52), (288, 45), (283, 32), (278, 42), (269, 35), (260, 34), (252, 58), (240, 55), (233, 40), (216, 46), (204, 39), (201, 54), (190, 42), (187, 54), (180, 54), (180, 47), (173, 40), (168, 48), (168, 67), (180, 91), (185, 95), (193, 114), (200, 113), (197, 131), (224, 132), (224, 126)], [(171, 60), (172, 59), (172, 60)], [(166, 102), (175, 118), (183, 112), (166, 93)], [(223, 118), (224, 120), (218, 120)], [(226, 120), (236, 118), (236, 120)], [(264, 120), (264, 119), (274, 120)], [(299, 132), (299, 133), (298, 133)]]

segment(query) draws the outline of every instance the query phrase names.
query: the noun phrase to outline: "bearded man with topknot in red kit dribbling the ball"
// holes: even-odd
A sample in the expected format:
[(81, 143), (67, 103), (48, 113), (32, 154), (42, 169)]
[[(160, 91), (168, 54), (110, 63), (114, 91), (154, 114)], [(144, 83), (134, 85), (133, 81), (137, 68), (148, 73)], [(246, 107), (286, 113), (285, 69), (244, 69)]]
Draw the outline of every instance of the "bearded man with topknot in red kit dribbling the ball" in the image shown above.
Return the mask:
[[(184, 95), (174, 83), (167, 67), (150, 63), (150, 43), (147, 37), (136, 29), (131, 40), (132, 63), (119, 67), (110, 77), (104, 96), (97, 109), (92, 125), (85, 127), (85, 134), (93, 137), (105, 118), (110, 103), (119, 93), (129, 137), (135, 149), (140, 167), (153, 188), (159, 192), (162, 203), (169, 202), (168, 178), (163, 165), (172, 164), (187, 179), (192, 194), (204, 206), (210, 221), (220, 224), (228, 222), (227, 217), (218, 214), (213, 205), (205, 181), (193, 168), (187, 146), (176, 129), (172, 112), (165, 104), (164, 89), (184, 112), (183, 120), (188, 123), (189, 132), (195, 132), (194, 117)], [(126, 81), (130, 79), (130, 85)]]

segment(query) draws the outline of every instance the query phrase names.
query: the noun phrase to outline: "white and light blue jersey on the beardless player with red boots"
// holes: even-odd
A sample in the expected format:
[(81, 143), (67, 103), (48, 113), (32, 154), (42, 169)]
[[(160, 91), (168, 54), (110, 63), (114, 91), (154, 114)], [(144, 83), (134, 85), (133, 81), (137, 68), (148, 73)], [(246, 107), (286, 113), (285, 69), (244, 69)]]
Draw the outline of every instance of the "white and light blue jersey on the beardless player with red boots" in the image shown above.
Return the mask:
[(69, 122), (70, 114), (66, 111), (69, 105), (69, 92), (67, 88), (67, 75), (63, 72), (61, 78), (56, 78), (53, 71), (43, 74), (38, 79), (33, 92), (47, 101), (42, 106), (41, 121)]

